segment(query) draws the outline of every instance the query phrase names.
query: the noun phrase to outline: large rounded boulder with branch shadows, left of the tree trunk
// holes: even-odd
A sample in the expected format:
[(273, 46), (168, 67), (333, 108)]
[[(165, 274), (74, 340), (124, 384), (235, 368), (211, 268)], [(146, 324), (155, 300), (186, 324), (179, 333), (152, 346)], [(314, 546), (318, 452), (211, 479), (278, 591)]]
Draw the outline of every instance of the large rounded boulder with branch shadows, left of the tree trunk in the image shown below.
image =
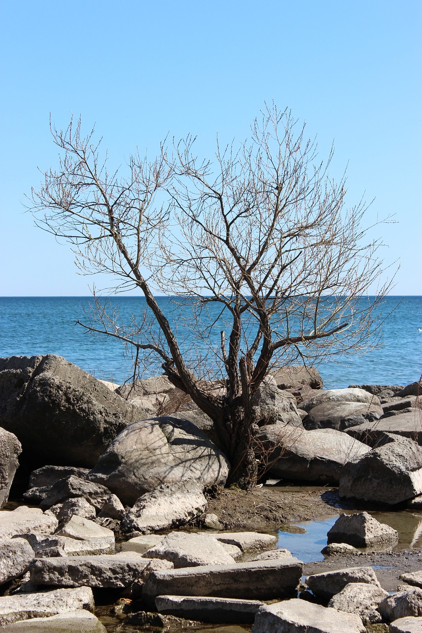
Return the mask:
[(228, 472), (226, 456), (200, 429), (188, 420), (163, 416), (126, 427), (88, 476), (133, 505), (160, 484), (224, 484)]

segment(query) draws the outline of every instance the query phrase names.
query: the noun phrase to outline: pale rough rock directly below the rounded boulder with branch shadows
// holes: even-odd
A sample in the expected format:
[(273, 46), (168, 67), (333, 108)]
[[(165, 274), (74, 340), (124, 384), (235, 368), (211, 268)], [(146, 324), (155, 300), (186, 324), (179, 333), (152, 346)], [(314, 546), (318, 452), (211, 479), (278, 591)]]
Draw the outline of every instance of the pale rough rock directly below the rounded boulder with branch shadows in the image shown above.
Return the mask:
[(207, 508), (207, 499), (195, 482), (162, 484), (146, 492), (127, 511), (124, 525), (135, 532), (165, 530), (184, 525)]

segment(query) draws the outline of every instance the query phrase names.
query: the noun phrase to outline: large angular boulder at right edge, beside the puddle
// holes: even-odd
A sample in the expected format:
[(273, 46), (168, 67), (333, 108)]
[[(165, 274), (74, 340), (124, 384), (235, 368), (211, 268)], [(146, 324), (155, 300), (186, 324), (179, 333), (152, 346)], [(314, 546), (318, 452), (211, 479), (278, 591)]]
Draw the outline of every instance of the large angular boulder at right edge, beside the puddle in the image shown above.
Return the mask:
[(422, 493), (422, 449), (406, 437), (387, 439), (388, 444), (345, 464), (340, 497), (395, 505)]

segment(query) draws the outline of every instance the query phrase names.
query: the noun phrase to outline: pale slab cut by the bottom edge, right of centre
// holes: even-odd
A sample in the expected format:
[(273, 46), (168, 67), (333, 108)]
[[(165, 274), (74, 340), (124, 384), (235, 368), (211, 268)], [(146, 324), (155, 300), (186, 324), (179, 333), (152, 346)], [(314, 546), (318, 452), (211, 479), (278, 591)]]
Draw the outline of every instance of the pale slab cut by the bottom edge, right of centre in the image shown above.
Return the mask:
[(262, 606), (252, 633), (366, 633), (359, 615), (297, 598)]

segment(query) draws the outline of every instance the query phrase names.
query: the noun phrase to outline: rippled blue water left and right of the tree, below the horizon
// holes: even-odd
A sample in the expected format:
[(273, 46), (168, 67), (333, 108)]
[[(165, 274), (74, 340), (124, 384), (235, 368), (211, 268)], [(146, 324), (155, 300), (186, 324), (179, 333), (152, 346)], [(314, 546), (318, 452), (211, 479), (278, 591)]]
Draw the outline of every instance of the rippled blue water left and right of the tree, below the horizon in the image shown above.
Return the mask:
[[(131, 313), (139, 314), (144, 300), (136, 297), (113, 297), (124, 320)], [(98, 378), (122, 383), (131, 374), (131, 360), (125, 358), (124, 347), (115, 339), (95, 337), (75, 322), (86, 321), (87, 297), (18, 297), (0, 298), (0, 356), (14, 354), (60, 354)], [(180, 308), (174, 312), (169, 298), (158, 302), (177, 335), (184, 339), (186, 354), (192, 353), (192, 341), (183, 326)], [(408, 384), (422, 373), (422, 297), (401, 299), (388, 297), (381, 307), (390, 316), (383, 325), (381, 344), (363, 356), (347, 356), (336, 365), (333, 361), (319, 365), (326, 387), (347, 387), (349, 384)], [(397, 306), (397, 307), (396, 307)], [(206, 332), (204, 330), (204, 338)], [(219, 336), (219, 329), (217, 329)], [(198, 344), (196, 342), (196, 344)], [(215, 341), (218, 347), (218, 341)], [(195, 352), (198, 351), (195, 348)], [(150, 361), (145, 376), (160, 371)]]

